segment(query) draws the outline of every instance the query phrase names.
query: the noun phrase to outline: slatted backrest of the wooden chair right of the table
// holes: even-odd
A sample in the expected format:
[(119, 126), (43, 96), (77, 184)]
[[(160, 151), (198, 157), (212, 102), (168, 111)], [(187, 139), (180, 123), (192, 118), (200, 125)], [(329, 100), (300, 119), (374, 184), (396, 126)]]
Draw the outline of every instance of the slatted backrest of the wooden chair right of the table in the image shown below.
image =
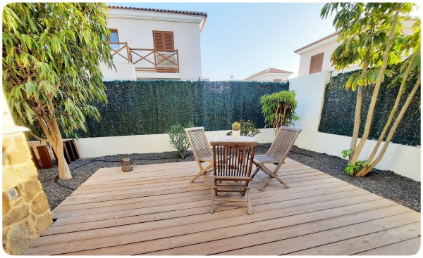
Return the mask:
[(278, 135), (276, 135), (275, 141), (271, 143), (266, 155), (283, 162), (286, 156), (288, 156), (290, 149), (293, 148), (294, 142), (300, 132), (301, 129), (280, 127)]

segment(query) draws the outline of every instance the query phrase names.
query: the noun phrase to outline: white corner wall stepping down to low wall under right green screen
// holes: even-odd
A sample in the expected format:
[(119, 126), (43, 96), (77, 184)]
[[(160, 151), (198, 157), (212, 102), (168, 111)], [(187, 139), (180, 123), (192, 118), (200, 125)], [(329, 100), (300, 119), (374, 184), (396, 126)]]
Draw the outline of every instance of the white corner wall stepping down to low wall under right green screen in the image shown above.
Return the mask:
[[(317, 130), (328, 74), (329, 72), (324, 71), (290, 79), (289, 88), (296, 91), (298, 99), (296, 113), (300, 117), (295, 127), (302, 129), (295, 145), (307, 150), (342, 157), (341, 151), (350, 148), (351, 137), (324, 134)], [(367, 140), (359, 160), (367, 159), (375, 144), (376, 141)], [(392, 170), (397, 174), (420, 181), (420, 153), (419, 147), (391, 143), (376, 168)]]

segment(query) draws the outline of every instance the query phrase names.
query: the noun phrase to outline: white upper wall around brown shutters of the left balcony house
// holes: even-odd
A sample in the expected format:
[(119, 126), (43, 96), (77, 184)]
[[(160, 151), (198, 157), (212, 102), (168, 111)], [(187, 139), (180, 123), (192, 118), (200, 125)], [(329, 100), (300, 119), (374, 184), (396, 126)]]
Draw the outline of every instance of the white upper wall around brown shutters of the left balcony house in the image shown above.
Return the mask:
[[(117, 29), (119, 41), (127, 41), (133, 49), (154, 49), (153, 30), (173, 32), (174, 46), (179, 54), (180, 79), (197, 80), (201, 77), (198, 23), (111, 17), (107, 27)], [(133, 55), (133, 58), (137, 56)]]

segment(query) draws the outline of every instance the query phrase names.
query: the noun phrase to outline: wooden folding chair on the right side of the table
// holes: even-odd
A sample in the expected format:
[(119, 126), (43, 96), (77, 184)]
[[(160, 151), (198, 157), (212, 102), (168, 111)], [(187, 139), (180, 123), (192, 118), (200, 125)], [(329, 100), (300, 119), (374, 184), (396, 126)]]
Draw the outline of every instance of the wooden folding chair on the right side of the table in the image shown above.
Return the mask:
[[(257, 169), (252, 174), (251, 179), (257, 174), (259, 170), (266, 173), (269, 178), (264, 183), (264, 186), (259, 189), (259, 191), (264, 191), (264, 188), (269, 184), (271, 179), (276, 179), (279, 183), (282, 183), (283, 186), (289, 188), (289, 186), (282, 181), (278, 177), (278, 170), (279, 168), (285, 163), (285, 158), (288, 156), (291, 148), (293, 148), (294, 142), (300, 134), (301, 129), (295, 129), (290, 127), (280, 127), (278, 135), (276, 135), (276, 139), (265, 155), (257, 155), (254, 157), (254, 164), (256, 165)], [(274, 164), (276, 165), (273, 171), (265, 166), (265, 164)]]

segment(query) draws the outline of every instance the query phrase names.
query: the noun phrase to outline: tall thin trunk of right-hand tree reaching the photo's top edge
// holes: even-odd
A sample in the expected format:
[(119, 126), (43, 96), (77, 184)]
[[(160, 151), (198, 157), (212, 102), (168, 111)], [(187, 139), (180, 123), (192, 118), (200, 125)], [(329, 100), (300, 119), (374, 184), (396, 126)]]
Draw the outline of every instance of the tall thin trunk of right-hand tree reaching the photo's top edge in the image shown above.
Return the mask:
[(366, 126), (364, 127), (364, 132), (363, 132), (362, 138), (360, 140), (360, 143), (358, 143), (357, 149), (355, 150), (355, 152), (353, 154), (353, 158), (350, 162), (353, 165), (355, 165), (355, 163), (357, 162), (358, 157), (360, 155), (360, 152), (361, 152), (361, 150), (364, 146), (364, 143), (367, 141), (367, 137), (369, 136), (370, 128), (372, 127), (372, 118), (373, 118), (373, 113), (374, 113), (374, 107), (376, 105), (376, 100), (377, 100), (377, 96), (379, 94), (379, 89), (381, 87), (381, 82), (384, 79), (386, 65), (388, 63), (389, 53), (391, 52), (391, 44), (392, 44), (392, 41), (393, 41), (393, 36), (394, 36), (395, 29), (396, 29), (396, 24), (398, 22), (399, 8), (400, 8), (400, 4), (397, 4), (396, 12), (393, 15), (393, 21), (392, 21), (392, 25), (391, 25), (391, 30), (389, 32), (388, 41), (386, 42), (386, 49), (385, 49), (385, 53), (384, 53), (384, 58), (382, 59), (381, 70), (379, 71), (379, 76), (376, 79), (376, 84), (374, 86), (373, 95), (372, 95), (372, 101), (370, 102), (369, 111), (367, 112)]

